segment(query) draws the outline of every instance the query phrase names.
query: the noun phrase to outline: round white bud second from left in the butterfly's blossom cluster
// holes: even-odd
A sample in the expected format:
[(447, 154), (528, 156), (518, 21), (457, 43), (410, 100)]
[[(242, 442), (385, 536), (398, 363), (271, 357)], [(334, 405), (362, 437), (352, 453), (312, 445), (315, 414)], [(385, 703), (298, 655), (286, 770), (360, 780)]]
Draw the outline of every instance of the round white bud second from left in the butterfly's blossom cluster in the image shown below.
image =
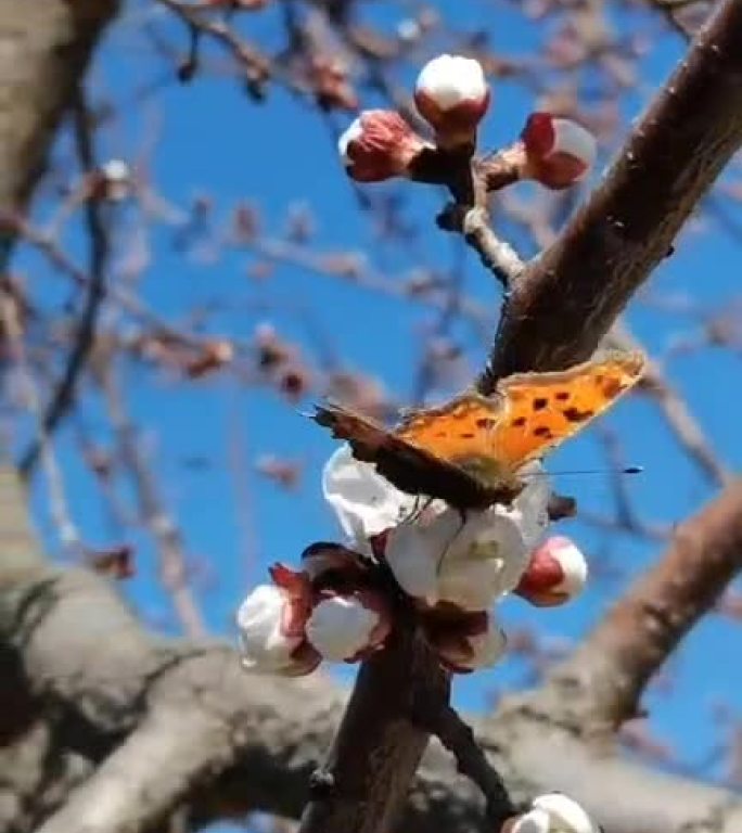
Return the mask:
[(370, 590), (329, 594), (312, 610), (307, 639), (325, 659), (355, 662), (383, 646), (392, 617), (381, 595)]

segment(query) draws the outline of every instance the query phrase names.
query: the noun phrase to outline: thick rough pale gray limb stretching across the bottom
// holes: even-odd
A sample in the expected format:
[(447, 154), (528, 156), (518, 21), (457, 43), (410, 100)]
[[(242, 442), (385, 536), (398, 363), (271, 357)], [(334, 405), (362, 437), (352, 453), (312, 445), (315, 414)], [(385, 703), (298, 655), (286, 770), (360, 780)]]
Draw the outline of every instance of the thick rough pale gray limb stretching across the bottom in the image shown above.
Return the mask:
[[(739, 503), (739, 487), (722, 500)], [(108, 580), (39, 559), (8, 474), (0, 507), (0, 540), (17, 553), (0, 592), (0, 830), (144, 833), (176, 809), (193, 824), (251, 810), (298, 818), (345, 693), (322, 676), (247, 676), (223, 644), (153, 638)], [(718, 511), (691, 518), (687, 534), (702, 537)], [(740, 796), (596, 745), (589, 722), (554, 708), (564, 696), (552, 681), (474, 721), (516, 799), (562, 789), (606, 833), (742, 829)], [(434, 746), (400, 829), (469, 833), (479, 822), (479, 796)]]

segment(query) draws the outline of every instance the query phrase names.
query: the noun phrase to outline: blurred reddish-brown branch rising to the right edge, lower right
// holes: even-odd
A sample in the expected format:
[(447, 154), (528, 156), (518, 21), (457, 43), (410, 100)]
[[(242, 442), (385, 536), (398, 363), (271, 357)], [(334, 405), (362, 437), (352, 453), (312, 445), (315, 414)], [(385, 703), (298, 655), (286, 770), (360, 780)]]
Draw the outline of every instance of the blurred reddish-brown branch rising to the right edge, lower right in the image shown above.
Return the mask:
[(554, 672), (545, 703), (591, 731), (636, 716), (639, 697), (682, 637), (742, 569), (742, 480), (681, 524), (660, 563)]

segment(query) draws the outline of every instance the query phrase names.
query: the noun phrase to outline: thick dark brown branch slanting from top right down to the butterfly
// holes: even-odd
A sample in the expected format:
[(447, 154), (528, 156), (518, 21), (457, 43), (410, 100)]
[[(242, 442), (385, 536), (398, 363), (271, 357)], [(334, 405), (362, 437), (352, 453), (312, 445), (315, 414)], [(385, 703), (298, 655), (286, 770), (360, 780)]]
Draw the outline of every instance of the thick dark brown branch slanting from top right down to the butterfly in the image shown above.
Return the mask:
[(726, 0), (603, 183), (527, 266), (479, 387), (589, 358), (740, 144), (742, 0)]

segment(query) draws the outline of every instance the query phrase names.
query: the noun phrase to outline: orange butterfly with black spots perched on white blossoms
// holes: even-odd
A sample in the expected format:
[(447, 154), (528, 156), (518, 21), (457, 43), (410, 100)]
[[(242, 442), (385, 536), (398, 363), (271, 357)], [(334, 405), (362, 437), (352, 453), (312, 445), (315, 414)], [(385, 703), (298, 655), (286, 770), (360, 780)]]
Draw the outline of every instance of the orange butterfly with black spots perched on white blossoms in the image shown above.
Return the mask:
[(332, 402), (312, 419), (401, 491), (484, 509), (509, 503), (524, 486), (519, 470), (611, 408), (644, 363), (640, 353), (614, 353), (564, 371), (516, 373), (491, 396), (471, 390), (408, 411), (392, 431)]

